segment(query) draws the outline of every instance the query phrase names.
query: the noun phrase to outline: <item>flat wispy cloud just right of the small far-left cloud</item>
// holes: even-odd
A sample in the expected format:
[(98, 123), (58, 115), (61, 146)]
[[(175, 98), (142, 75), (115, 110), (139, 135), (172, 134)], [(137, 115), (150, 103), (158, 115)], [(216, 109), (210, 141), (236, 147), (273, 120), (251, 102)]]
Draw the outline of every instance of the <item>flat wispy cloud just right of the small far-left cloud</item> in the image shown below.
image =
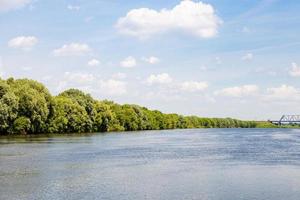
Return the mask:
[(53, 54), (54, 56), (82, 56), (89, 52), (91, 52), (91, 48), (87, 44), (71, 43), (55, 49)]

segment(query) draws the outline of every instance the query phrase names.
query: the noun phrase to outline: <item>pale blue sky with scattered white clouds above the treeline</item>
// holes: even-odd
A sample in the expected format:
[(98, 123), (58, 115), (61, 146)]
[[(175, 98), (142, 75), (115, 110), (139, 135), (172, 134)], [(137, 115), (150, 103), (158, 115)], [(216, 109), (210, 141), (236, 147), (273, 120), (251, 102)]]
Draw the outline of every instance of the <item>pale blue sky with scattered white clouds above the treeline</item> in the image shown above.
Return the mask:
[(300, 114), (298, 0), (0, 0), (0, 77), (247, 120)]

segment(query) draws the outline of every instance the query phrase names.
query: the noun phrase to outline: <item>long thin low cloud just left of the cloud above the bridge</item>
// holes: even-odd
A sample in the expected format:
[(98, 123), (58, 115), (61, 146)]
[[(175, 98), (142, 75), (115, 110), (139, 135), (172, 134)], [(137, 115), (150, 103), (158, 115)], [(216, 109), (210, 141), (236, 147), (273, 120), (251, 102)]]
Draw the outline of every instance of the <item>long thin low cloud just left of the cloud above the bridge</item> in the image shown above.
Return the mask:
[(224, 88), (221, 91), (215, 92), (215, 94), (230, 97), (243, 97), (255, 95), (258, 93), (258, 91), (259, 87), (257, 85), (243, 85)]

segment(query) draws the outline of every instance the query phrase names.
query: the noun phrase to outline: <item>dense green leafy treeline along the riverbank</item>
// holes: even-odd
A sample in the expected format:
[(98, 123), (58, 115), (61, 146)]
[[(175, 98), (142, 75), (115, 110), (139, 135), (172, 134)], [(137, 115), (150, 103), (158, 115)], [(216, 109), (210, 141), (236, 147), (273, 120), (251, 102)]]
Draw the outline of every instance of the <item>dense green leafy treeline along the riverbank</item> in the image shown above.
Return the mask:
[(34, 80), (0, 79), (0, 135), (270, 126), (267, 122), (164, 114), (138, 105), (95, 100), (77, 89), (52, 96)]

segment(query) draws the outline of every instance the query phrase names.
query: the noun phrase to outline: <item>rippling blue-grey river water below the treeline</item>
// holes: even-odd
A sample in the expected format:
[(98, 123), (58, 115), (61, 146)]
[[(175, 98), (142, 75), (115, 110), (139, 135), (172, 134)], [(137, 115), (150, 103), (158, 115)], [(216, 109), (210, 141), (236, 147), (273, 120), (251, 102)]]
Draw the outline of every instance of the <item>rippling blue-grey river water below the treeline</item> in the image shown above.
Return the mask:
[(0, 138), (0, 199), (299, 200), (300, 130)]

